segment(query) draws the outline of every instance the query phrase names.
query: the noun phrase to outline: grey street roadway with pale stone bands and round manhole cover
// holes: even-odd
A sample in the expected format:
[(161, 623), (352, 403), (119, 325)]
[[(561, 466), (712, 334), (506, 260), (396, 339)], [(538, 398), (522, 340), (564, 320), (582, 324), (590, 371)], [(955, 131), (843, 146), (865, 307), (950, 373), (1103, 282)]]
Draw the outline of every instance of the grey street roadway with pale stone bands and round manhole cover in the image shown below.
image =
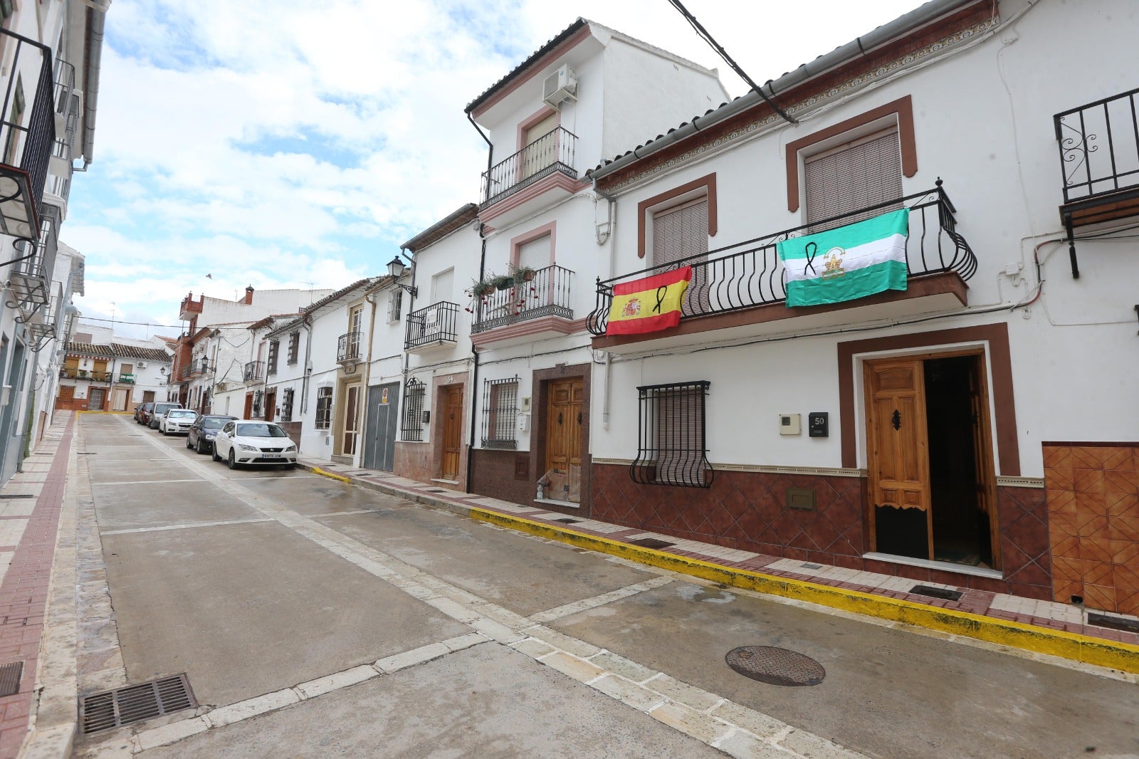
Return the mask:
[[(80, 435), (123, 684), (186, 672), (198, 702), (226, 715), (363, 672), (232, 724), (183, 712), (136, 726), (195, 733), (140, 738), (148, 757), (849, 756), (828, 741), (890, 758), (1139, 757), (1132, 683), (728, 591), (300, 471), (231, 472), (129, 417), (82, 415)], [(468, 645), (476, 630), (486, 637)], [(466, 643), (437, 645), (452, 640)], [(800, 652), (826, 677), (745, 678), (724, 663), (743, 645)], [(362, 667), (415, 651), (439, 655)], [(107, 687), (85, 676), (96, 668), (81, 659), (81, 693)], [(79, 754), (129, 753), (130, 732), (85, 737)]]

